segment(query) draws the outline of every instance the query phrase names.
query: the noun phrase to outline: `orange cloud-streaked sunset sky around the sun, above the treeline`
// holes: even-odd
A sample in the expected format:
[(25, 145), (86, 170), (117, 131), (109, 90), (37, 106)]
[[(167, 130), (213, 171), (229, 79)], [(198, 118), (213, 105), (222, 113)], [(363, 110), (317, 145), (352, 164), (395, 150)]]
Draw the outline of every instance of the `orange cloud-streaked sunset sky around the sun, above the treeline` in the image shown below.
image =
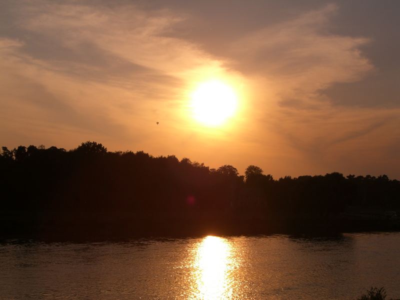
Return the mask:
[[(0, 143), (400, 179), (400, 2), (0, 2)], [(230, 86), (208, 126), (191, 95)], [(156, 124), (156, 122), (159, 122)]]

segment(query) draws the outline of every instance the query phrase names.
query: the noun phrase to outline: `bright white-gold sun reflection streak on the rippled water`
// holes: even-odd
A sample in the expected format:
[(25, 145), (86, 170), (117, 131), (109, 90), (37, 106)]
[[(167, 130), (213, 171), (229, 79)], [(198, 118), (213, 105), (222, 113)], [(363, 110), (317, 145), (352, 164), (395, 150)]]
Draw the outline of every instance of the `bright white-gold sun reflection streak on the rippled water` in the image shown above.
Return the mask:
[(226, 299), (232, 297), (234, 266), (230, 243), (217, 236), (206, 236), (195, 252), (194, 277), (196, 299)]

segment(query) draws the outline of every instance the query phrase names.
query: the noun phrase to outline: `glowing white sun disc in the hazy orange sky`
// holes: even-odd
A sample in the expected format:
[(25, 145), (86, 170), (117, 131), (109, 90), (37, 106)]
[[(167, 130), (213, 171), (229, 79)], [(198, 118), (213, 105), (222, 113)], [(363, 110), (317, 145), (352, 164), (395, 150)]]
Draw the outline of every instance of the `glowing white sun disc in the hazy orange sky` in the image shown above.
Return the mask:
[(203, 82), (191, 94), (194, 118), (207, 126), (218, 126), (237, 109), (234, 90), (220, 80)]

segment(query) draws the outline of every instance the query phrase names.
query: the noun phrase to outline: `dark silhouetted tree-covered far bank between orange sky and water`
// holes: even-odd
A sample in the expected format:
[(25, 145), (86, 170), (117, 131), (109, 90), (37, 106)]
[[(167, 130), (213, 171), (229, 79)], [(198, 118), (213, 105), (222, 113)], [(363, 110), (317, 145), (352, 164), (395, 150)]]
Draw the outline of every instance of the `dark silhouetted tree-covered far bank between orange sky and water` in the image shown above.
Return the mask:
[(93, 141), (2, 147), (2, 236), (397, 230), (400, 181), (333, 172), (274, 179), (249, 165), (107, 151)]

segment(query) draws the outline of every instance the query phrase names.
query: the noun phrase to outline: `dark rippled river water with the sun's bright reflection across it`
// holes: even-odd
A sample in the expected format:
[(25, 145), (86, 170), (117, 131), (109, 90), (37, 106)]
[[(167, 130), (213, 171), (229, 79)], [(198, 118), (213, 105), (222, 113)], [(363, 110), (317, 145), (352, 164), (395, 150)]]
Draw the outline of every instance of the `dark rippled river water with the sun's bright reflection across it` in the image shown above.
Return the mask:
[(400, 233), (0, 244), (1, 299), (400, 298)]

